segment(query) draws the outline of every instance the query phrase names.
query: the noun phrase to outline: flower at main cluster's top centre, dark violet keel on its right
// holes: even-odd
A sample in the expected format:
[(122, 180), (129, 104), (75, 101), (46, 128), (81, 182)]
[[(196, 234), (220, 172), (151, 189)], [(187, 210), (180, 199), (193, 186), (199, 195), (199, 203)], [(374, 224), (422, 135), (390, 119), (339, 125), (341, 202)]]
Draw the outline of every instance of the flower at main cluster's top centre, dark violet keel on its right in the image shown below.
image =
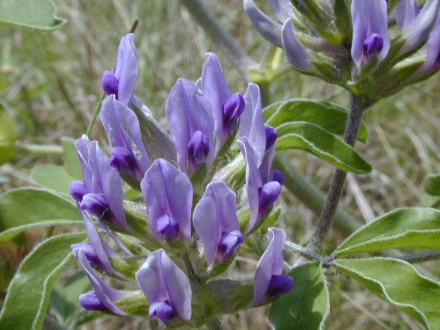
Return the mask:
[(244, 100), (239, 93), (231, 95), (221, 71), (219, 58), (212, 52), (206, 53), (206, 63), (201, 74), (201, 89), (211, 102), (218, 149), (235, 129), (244, 109)]

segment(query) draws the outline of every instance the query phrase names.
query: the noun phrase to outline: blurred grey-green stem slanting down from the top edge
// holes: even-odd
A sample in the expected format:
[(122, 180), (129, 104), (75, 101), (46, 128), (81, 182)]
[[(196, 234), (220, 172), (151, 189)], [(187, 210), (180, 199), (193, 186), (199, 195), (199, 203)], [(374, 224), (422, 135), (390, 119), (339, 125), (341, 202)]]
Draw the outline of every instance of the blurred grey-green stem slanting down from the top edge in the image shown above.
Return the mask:
[(223, 28), (221, 23), (214, 17), (214, 14), (201, 0), (181, 0), (192, 15), (201, 25), (210, 39), (219, 47), (221, 52), (228, 56), (234, 67), (240, 72), (243, 79), (249, 80), (248, 69), (252, 60), (248, 54), (235, 41), (234, 37)]

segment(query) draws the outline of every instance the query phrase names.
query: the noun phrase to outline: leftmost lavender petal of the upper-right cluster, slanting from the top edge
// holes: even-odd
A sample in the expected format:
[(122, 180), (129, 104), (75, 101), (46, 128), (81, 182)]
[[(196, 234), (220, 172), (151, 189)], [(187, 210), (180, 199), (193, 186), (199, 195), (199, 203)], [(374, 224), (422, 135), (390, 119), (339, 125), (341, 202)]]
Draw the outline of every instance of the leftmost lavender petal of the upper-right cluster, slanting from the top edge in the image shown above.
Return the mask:
[(253, 0), (245, 0), (243, 8), (248, 14), (252, 25), (265, 39), (278, 47), (283, 47), (280, 37), (280, 24), (275, 23), (270, 17), (262, 12)]

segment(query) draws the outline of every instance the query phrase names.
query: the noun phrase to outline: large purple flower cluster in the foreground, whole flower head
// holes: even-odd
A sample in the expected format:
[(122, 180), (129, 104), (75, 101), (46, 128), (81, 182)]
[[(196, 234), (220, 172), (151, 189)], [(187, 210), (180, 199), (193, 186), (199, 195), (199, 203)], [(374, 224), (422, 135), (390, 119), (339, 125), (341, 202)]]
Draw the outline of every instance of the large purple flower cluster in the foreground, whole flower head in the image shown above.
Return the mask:
[[(133, 34), (122, 38), (115, 72), (102, 74), (108, 96), (100, 120), (110, 156), (86, 135), (75, 144), (83, 181), (72, 181), (69, 191), (89, 243), (72, 245), (72, 252), (93, 286), (79, 299), (86, 309), (121, 316), (148, 310), (150, 318), (163, 322), (203, 323), (221, 312), (199, 306), (210, 296), (209, 287), (217, 285), (210, 285), (212, 278), (258, 232), (280, 195), (283, 177), (272, 169), (277, 135), (263, 122), (259, 87), (250, 84), (243, 96), (232, 94), (217, 56), (208, 53), (197, 83), (178, 79), (170, 91), (169, 136), (133, 94), (133, 39)], [(233, 143), (237, 133), (238, 148)], [(243, 164), (234, 173), (241, 177), (234, 190), (216, 175), (231, 157)], [(143, 201), (124, 200), (126, 189)], [(278, 228), (267, 232), (253, 300), (252, 294), (241, 294), (243, 308), (267, 303), (293, 285), (292, 277), (282, 274), (285, 233)], [(113, 289), (100, 273), (135, 283), (140, 290)], [(248, 287), (239, 283), (234, 290)], [(211, 295), (210, 300), (219, 299), (215, 292)]]

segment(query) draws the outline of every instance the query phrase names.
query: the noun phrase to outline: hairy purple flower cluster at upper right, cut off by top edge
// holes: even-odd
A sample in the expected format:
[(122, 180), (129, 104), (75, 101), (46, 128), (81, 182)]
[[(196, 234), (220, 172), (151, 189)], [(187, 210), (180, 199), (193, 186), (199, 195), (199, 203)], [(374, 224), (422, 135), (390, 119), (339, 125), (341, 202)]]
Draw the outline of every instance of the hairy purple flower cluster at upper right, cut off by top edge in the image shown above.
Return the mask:
[[(256, 30), (283, 47), (292, 67), (368, 94), (372, 102), (440, 67), (439, 0), (421, 10), (415, 0), (267, 1), (281, 23), (253, 0), (243, 4)], [(388, 27), (388, 14), (397, 29)]]

